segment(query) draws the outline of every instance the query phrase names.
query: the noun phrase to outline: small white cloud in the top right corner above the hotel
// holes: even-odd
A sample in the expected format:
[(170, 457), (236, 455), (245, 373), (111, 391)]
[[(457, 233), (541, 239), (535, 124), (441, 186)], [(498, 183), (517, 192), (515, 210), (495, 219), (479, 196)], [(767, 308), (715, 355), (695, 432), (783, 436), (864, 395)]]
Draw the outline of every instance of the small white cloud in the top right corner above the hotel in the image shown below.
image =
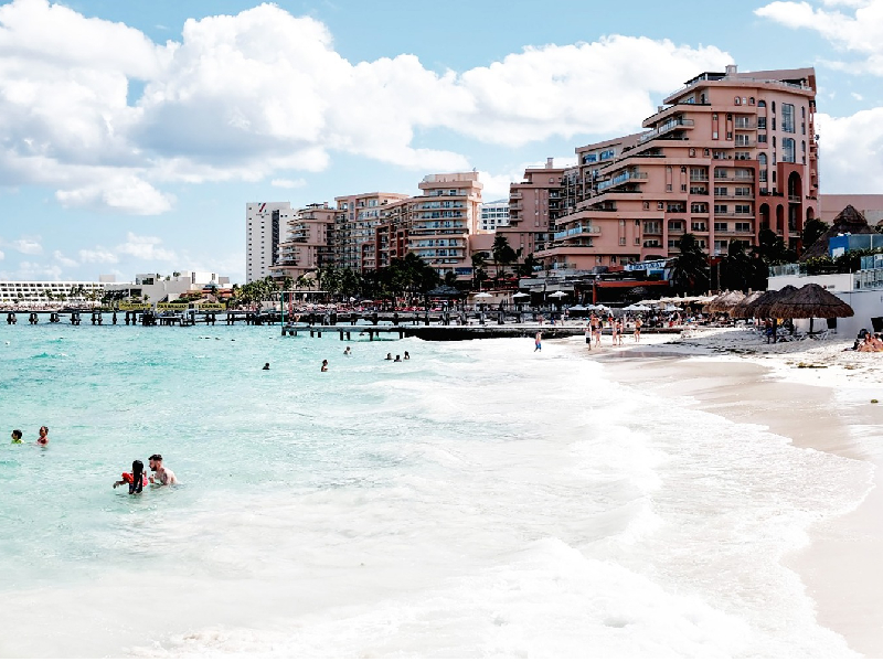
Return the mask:
[[(756, 9), (755, 13), (788, 28), (813, 30), (837, 49), (861, 57), (849, 65), (840, 63), (842, 68), (848, 66), (855, 73), (883, 76), (883, 1), (834, 0), (823, 4), (834, 9), (815, 8), (809, 2), (777, 1)], [(837, 7), (853, 12), (844, 13)]]

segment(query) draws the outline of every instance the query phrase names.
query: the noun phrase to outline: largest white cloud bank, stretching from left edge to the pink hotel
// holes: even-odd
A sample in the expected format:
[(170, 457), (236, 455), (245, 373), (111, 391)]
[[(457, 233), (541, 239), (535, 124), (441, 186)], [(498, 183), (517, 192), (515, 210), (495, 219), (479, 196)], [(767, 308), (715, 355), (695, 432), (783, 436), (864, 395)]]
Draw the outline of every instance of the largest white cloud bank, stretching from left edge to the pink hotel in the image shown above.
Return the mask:
[[(0, 7), (0, 185), (158, 214), (174, 203), (166, 184), (298, 182), (274, 175), (322, 171), (336, 153), (465, 170), (465, 156), (416, 146), (415, 134), (520, 146), (632, 130), (658, 96), (728, 62), (713, 46), (615, 35), (439, 74), (414, 55), (349, 62), (322, 23), (274, 4), (188, 20), (180, 42), (156, 44), (47, 0), (13, 0)], [(132, 81), (145, 88), (129, 106)]]

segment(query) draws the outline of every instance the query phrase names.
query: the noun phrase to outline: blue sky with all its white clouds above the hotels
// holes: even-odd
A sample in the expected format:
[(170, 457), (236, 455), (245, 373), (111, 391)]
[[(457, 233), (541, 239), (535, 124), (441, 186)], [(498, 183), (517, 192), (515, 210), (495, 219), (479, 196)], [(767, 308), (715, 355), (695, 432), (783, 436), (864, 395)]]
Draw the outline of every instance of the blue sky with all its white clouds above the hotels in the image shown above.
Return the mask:
[(245, 280), (245, 205), (525, 167), (704, 71), (815, 66), (822, 193), (883, 193), (883, 0), (0, 2), (0, 279)]

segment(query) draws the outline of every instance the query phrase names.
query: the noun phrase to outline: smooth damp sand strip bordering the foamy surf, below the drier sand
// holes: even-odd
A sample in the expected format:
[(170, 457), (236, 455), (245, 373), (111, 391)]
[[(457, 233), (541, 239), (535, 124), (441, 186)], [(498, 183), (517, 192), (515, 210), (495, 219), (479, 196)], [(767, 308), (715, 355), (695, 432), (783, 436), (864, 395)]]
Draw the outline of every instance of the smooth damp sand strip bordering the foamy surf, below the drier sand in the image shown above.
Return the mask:
[[(594, 351), (591, 357), (621, 383), (689, 396), (702, 410), (765, 425), (796, 446), (871, 462), (875, 477), (881, 476), (883, 405), (870, 404), (866, 387), (844, 398), (832, 387), (774, 378), (772, 371), (747, 360), (696, 360), (652, 346), (606, 355)], [(874, 485), (857, 510), (808, 533), (810, 544), (784, 563), (807, 586), (819, 623), (842, 634), (854, 651), (883, 656), (883, 569), (877, 560), (883, 557), (883, 491)]]

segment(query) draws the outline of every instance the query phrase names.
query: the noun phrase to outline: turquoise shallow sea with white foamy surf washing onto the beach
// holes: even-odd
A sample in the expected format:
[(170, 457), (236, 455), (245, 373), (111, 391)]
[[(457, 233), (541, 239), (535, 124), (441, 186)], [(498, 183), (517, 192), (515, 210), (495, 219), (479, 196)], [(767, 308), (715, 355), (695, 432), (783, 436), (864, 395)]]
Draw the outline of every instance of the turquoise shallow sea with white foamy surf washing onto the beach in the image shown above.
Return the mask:
[(0, 655), (851, 654), (779, 558), (868, 466), (554, 343), (349, 344), (0, 328)]

